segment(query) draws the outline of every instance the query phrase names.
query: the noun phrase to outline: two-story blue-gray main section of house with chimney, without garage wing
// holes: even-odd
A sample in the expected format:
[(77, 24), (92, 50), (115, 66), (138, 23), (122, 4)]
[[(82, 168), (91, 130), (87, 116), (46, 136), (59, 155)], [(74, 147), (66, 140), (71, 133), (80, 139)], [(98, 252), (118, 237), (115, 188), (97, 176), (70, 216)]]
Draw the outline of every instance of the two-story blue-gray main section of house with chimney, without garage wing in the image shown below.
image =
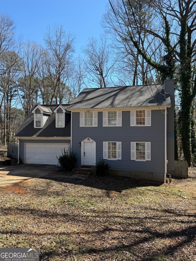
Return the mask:
[(68, 106), (81, 165), (101, 158), (121, 176), (164, 182), (174, 169), (174, 81), (84, 89)]

